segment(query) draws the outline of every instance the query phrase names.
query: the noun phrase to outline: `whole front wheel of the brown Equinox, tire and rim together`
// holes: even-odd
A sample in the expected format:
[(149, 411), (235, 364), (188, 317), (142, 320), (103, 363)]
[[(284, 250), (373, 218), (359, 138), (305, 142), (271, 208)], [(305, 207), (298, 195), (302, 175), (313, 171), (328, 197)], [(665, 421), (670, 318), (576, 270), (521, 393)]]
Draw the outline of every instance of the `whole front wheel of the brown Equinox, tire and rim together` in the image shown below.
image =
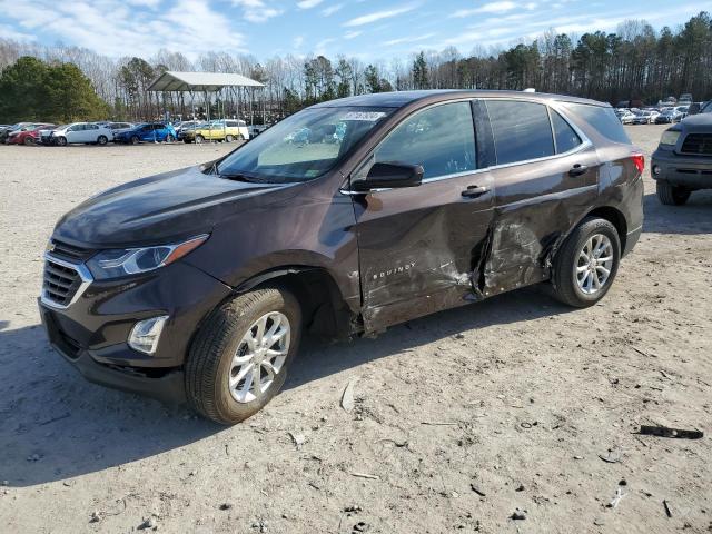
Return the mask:
[[(279, 323), (266, 319), (265, 328), (287, 326), (288, 334), (275, 342), (270, 347), (281, 349), (284, 359), (273, 356), (270, 365), (277, 372), (273, 380), (263, 392), (253, 384), (254, 375), (249, 368), (259, 368), (261, 382), (269, 379), (266, 360), (269, 357), (257, 355), (258, 352), (247, 346), (246, 338), (259, 338), (256, 325), (267, 316), (279, 316)], [(285, 319), (288, 322), (285, 324)], [(280, 330), (277, 329), (276, 333)], [(299, 347), (301, 336), (301, 309), (296, 298), (288, 291), (267, 287), (240, 295), (216, 308), (198, 330), (186, 363), (186, 396), (192, 409), (204, 417), (224, 425), (234, 425), (259, 412), (277, 395), (285, 383), (289, 365)], [(284, 342), (283, 339), (287, 339)], [(279, 344), (286, 343), (287, 346)], [(260, 347), (263, 345), (258, 345)], [(263, 350), (265, 350), (263, 348)], [(261, 359), (259, 367), (249, 367), (249, 362), (234, 362), (238, 353), (241, 356)], [(279, 363), (281, 364), (279, 365)], [(265, 366), (265, 367), (263, 367)], [(246, 373), (243, 378), (239, 378)], [(229, 385), (230, 376), (235, 382)], [(249, 380), (249, 384), (248, 384)], [(241, 388), (240, 388), (241, 386)]]

